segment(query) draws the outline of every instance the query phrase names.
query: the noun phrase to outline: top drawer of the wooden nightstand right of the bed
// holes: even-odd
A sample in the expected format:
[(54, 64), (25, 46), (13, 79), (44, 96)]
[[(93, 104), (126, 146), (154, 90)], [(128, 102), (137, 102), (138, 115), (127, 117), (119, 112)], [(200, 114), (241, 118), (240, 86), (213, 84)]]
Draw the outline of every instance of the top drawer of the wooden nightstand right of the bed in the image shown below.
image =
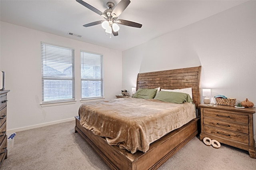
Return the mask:
[(234, 121), (234, 122), (239, 122), (239, 123), (246, 123), (248, 124), (248, 116), (247, 115), (238, 115), (234, 113), (228, 113), (228, 112), (222, 112), (222, 111), (212, 111), (212, 110), (207, 110), (204, 109), (203, 113), (204, 117), (212, 117), (215, 119), (222, 119), (226, 121)]

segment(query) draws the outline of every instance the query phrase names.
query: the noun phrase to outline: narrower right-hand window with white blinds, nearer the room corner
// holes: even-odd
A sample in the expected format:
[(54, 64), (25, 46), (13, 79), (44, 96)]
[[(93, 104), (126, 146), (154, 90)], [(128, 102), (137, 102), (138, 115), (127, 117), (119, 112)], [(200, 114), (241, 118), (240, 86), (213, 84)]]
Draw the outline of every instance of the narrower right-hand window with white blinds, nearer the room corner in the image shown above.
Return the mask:
[(82, 99), (103, 97), (102, 55), (81, 51)]

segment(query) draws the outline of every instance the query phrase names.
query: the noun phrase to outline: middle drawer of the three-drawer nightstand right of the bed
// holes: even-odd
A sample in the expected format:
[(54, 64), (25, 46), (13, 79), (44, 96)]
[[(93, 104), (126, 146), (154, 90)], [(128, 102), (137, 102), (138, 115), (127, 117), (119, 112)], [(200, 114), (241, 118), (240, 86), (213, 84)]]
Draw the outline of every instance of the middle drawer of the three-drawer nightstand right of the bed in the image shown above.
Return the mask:
[(220, 119), (212, 119), (208, 117), (204, 117), (204, 125), (209, 125), (218, 128), (224, 128), (227, 130), (232, 130), (235, 132), (241, 132), (245, 134), (249, 134), (249, 126), (242, 125), (234, 122), (222, 121)]

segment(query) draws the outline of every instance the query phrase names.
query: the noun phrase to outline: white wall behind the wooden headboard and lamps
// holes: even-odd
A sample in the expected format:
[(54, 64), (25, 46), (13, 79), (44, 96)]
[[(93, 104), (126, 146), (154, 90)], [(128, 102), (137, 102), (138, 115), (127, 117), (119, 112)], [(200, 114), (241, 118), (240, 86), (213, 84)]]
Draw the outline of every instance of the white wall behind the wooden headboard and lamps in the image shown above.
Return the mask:
[(256, 107), (256, 1), (123, 51), (122, 57), (123, 89), (136, 85), (139, 72), (202, 65), (201, 89), (211, 88), (213, 97), (248, 98)]

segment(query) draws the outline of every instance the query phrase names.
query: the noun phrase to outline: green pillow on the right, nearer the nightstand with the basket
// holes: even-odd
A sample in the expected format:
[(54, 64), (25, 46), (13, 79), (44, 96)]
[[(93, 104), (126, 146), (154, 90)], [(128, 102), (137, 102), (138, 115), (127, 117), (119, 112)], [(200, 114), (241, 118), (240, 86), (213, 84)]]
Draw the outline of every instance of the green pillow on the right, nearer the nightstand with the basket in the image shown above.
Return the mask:
[(180, 104), (184, 102), (193, 102), (189, 94), (172, 91), (159, 91), (154, 99)]

